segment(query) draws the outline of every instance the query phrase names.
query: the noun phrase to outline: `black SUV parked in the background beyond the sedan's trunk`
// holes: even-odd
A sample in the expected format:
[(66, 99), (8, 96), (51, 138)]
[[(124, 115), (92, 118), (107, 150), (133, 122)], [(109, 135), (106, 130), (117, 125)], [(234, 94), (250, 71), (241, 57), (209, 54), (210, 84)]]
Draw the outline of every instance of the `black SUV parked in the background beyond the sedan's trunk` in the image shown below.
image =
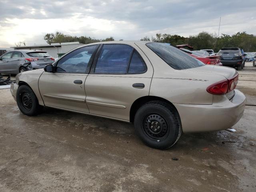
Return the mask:
[(234, 67), (237, 70), (244, 68), (244, 56), (240, 48), (222, 48), (219, 50), (220, 62), (223, 66)]

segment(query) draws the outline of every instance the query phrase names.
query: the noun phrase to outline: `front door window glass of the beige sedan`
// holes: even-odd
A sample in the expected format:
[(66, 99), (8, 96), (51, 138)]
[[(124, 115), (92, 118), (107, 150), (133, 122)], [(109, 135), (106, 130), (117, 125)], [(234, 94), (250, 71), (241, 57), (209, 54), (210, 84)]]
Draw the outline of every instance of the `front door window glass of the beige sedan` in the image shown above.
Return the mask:
[(70, 52), (58, 61), (56, 71), (68, 73), (85, 73), (90, 58), (97, 45), (86, 46)]

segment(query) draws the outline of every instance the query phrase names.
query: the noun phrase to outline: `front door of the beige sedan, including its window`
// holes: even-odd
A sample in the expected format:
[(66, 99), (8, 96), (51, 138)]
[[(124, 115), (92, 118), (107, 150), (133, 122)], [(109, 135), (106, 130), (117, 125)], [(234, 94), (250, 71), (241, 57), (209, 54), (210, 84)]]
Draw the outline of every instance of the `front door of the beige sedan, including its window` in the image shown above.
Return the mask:
[(78, 48), (54, 64), (54, 72), (39, 78), (40, 94), (46, 106), (89, 113), (84, 82), (99, 45)]

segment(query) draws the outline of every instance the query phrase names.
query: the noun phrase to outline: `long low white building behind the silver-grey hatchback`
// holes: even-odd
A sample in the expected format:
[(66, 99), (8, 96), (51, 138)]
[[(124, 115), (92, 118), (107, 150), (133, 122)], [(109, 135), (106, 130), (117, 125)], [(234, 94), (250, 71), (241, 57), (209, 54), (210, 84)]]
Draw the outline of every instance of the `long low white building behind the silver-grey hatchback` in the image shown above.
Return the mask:
[(65, 54), (70, 50), (77, 48), (81, 45), (79, 42), (69, 42), (69, 43), (52, 43), (52, 44), (42, 44), (42, 45), (33, 45), (33, 46), (20, 46), (13, 47), (15, 50), (40, 50), (46, 51), (50, 56), (58, 58), (58, 54)]

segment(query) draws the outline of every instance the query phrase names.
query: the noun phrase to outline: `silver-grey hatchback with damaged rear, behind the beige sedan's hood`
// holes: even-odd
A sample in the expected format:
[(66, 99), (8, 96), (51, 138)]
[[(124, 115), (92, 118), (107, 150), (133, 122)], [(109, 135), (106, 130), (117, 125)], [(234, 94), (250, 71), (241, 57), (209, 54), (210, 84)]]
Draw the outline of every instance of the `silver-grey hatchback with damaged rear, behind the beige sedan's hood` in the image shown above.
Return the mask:
[(53, 62), (54, 58), (45, 51), (10, 51), (0, 57), (0, 73), (18, 74), (27, 70), (44, 68)]

